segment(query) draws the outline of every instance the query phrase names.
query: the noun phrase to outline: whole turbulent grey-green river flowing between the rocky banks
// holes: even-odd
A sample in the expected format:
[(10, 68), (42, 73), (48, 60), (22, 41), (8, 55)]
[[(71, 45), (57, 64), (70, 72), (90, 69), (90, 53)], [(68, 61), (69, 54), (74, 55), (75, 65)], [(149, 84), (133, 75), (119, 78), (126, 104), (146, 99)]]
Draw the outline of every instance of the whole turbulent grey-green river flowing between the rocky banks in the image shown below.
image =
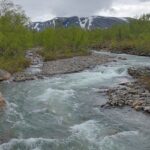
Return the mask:
[[(101, 53), (100, 53), (101, 54)], [(133, 79), (129, 66), (150, 66), (132, 55), (80, 73), (2, 83), (0, 150), (150, 150), (150, 117), (131, 108), (104, 109), (100, 89)]]

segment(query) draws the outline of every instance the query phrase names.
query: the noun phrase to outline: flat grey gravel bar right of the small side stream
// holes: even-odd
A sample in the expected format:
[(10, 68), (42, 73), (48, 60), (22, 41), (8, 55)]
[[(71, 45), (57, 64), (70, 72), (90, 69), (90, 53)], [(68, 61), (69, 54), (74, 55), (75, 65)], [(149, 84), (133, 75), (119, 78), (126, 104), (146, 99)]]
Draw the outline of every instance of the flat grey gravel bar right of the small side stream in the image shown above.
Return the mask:
[(68, 59), (45, 62), (42, 67), (43, 75), (65, 74), (83, 71), (96, 65), (112, 61), (109, 56), (91, 54), (89, 56), (77, 56)]

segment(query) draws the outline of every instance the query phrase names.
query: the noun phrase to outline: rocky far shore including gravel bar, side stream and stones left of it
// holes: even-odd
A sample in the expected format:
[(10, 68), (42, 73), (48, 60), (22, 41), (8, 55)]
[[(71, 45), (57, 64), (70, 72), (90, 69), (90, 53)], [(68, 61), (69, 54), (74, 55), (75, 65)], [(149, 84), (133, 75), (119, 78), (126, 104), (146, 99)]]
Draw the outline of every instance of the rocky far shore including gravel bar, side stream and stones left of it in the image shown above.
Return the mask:
[(32, 51), (28, 52), (27, 58), (31, 61), (30, 68), (24, 72), (15, 73), (12, 81), (21, 82), (43, 79), (45, 76), (79, 72), (113, 60), (113, 58), (107, 55), (92, 53), (89, 56), (76, 56), (73, 58), (43, 62), (41, 56)]

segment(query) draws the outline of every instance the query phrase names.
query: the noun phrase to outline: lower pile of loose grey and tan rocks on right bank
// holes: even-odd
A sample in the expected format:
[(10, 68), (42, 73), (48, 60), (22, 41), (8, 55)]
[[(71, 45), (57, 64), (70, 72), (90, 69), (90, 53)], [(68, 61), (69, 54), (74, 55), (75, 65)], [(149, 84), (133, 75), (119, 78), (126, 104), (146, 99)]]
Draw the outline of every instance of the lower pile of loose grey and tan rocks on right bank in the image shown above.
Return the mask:
[(150, 113), (150, 92), (138, 82), (126, 83), (109, 89), (107, 95), (107, 105), (111, 107), (130, 106), (136, 111)]

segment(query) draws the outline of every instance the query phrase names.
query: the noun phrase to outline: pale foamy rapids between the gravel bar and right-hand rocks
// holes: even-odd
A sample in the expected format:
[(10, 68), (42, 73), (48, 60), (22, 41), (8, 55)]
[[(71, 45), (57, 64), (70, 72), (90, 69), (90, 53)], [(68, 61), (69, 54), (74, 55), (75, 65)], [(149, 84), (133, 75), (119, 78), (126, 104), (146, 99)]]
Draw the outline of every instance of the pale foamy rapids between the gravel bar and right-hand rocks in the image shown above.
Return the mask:
[(68, 76), (70, 78), (70, 82), (66, 83), (65, 86), (71, 89), (81, 89), (95, 86), (98, 83), (103, 83), (105, 85), (108, 80), (112, 81), (113, 78), (116, 78), (117, 80), (118, 77), (124, 76), (128, 76), (127, 69), (123, 69), (122, 67), (101, 66), (90, 71), (84, 71)]

